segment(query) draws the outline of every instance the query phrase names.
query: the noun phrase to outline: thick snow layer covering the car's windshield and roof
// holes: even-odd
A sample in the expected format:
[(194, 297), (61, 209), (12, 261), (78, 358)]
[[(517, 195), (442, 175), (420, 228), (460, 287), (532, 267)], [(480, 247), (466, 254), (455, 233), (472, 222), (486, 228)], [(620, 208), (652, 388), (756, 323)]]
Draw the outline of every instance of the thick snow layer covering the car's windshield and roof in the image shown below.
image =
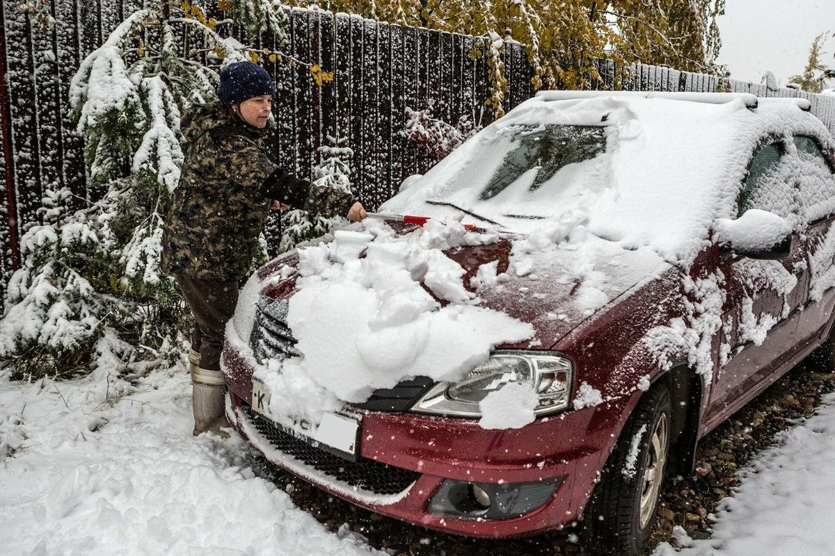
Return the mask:
[[(822, 123), (793, 102), (749, 109), (737, 98), (722, 104), (630, 96), (544, 98), (531, 98), (484, 128), (382, 210), (485, 225), (473, 218), (478, 215), (522, 233), (555, 223), (583, 226), (623, 248), (646, 246), (687, 264), (705, 245), (715, 219), (734, 214), (758, 143), (789, 130), (830, 141)], [(531, 168), (502, 193), (483, 198), (518, 138), (548, 126), (604, 128), (605, 152), (567, 164), (535, 191)], [(534, 218), (514, 218), (520, 210)]]

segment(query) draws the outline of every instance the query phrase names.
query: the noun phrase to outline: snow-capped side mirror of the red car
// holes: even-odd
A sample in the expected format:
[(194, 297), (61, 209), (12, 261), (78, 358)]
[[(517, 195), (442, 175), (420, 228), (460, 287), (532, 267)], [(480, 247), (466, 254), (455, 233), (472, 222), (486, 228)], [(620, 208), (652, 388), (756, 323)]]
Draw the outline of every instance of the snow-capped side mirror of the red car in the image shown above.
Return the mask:
[(742, 257), (777, 260), (792, 254), (792, 225), (758, 208), (747, 210), (736, 220), (719, 218), (714, 238)]

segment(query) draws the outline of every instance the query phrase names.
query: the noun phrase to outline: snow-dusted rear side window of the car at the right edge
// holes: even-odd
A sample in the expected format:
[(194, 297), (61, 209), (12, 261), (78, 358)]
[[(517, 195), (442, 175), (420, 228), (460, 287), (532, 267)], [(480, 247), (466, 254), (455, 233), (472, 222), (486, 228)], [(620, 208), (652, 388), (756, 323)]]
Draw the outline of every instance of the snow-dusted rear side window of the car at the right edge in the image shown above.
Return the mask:
[(793, 139), (797, 148), (797, 188), (803, 219), (817, 222), (835, 214), (835, 168), (811, 137)]

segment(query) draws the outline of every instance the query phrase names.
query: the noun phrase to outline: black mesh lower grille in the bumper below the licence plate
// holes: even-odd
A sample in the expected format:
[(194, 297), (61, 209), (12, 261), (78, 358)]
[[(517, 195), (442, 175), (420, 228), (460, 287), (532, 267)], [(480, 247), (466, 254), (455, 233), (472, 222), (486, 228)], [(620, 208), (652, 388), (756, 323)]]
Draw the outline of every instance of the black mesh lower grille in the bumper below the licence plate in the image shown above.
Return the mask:
[(352, 487), (376, 494), (397, 494), (409, 488), (420, 476), (420, 473), (373, 459), (357, 457), (357, 461), (352, 462), (321, 448), (315, 448), (305, 440), (287, 433), (249, 406), (246, 406), (246, 416), (273, 448)]

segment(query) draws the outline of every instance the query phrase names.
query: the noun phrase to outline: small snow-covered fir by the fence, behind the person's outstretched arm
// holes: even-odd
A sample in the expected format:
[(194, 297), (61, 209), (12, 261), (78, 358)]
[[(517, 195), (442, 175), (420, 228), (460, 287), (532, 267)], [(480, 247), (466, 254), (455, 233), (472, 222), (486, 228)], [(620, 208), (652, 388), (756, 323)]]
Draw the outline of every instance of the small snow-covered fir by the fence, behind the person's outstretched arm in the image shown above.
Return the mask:
[[(333, 138), (326, 136), (330, 144), (321, 146), (321, 163), (314, 168), (316, 180), (314, 185), (326, 188), (335, 188), (340, 191), (351, 192), (351, 168), (349, 166), (353, 151), (345, 146), (345, 138)], [(291, 210), (284, 218), (282, 224), (284, 230), (281, 233), (281, 242), (278, 252), (286, 253), (296, 248), (299, 243), (320, 238), (331, 231), (331, 223), (338, 218), (324, 218), (315, 213), (307, 213), (303, 210)]]

